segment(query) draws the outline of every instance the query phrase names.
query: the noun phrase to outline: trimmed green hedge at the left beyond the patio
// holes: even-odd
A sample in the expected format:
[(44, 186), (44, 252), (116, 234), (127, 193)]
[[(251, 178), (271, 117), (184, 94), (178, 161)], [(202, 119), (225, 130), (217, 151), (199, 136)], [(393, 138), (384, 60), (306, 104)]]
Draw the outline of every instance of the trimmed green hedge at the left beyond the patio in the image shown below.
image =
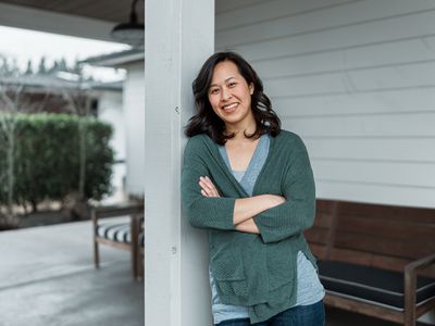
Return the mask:
[[(79, 190), (80, 135), (85, 137), (86, 164), (84, 199), (101, 199), (110, 192), (114, 161), (109, 146), (112, 127), (92, 117), (66, 114), (20, 114), (0, 116), (14, 122), (14, 192), (16, 204), (45, 199), (63, 200)], [(4, 126), (4, 124), (3, 124)], [(0, 174), (8, 166), (8, 133), (0, 125)], [(80, 134), (84, 133), (84, 134)], [(83, 137), (82, 137), (83, 139)], [(8, 201), (8, 183), (0, 183), (0, 203)]]

